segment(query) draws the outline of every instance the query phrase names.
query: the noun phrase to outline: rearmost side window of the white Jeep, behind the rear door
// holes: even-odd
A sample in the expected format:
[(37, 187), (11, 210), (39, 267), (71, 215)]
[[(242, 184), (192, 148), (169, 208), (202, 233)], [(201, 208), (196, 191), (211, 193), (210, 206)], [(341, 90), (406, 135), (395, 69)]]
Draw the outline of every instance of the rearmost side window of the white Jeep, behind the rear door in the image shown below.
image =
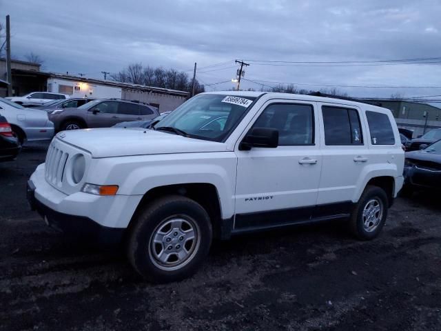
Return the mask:
[(395, 136), (389, 116), (381, 112), (366, 112), (372, 145), (395, 145)]

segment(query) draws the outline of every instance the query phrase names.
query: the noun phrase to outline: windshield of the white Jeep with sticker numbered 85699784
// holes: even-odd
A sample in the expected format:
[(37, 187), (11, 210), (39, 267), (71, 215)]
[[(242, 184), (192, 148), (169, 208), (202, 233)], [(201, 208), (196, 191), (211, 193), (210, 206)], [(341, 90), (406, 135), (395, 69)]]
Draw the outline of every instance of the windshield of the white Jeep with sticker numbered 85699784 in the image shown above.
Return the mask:
[[(236, 128), (256, 97), (199, 94), (156, 124), (156, 130), (172, 127), (191, 138), (222, 141)], [(160, 129), (161, 130), (161, 129)]]

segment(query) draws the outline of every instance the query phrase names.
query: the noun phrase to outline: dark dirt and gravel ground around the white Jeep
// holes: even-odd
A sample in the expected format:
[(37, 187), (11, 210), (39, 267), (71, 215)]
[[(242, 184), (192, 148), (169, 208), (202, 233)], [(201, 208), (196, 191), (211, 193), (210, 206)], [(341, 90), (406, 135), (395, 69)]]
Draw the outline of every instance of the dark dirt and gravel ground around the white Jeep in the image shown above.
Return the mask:
[(47, 145), (0, 163), (0, 330), (441, 330), (441, 204), (397, 199), (380, 238), (338, 223), (214, 244), (181, 283), (46, 227), (25, 183)]

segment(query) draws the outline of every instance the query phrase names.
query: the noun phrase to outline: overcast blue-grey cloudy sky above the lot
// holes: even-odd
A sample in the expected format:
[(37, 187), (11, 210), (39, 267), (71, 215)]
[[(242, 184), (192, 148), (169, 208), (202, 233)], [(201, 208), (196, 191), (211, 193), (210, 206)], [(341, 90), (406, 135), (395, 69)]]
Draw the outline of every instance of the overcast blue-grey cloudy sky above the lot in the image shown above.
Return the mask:
[[(12, 54), (34, 52), (45, 70), (118, 72), (134, 62), (188, 70), (210, 84), (236, 75), (234, 59), (373, 61), (441, 57), (439, 0), (0, 0)], [(4, 18), (1, 18), (4, 21)], [(245, 79), (274, 86), (441, 86), (441, 63), (399, 66), (262, 66)], [(278, 63), (280, 64), (280, 63)], [(233, 83), (207, 87), (232, 88)], [(243, 88), (261, 86), (243, 81)], [(351, 96), (441, 94), (441, 88), (338, 88)]]

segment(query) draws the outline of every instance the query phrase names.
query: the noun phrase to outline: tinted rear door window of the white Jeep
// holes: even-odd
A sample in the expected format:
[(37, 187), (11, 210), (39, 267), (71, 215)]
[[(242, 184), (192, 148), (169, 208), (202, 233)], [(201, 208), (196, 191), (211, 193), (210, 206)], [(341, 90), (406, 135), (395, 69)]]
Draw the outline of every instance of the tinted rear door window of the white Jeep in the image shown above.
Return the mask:
[(351, 108), (322, 106), (327, 146), (362, 145), (363, 135), (358, 111)]

